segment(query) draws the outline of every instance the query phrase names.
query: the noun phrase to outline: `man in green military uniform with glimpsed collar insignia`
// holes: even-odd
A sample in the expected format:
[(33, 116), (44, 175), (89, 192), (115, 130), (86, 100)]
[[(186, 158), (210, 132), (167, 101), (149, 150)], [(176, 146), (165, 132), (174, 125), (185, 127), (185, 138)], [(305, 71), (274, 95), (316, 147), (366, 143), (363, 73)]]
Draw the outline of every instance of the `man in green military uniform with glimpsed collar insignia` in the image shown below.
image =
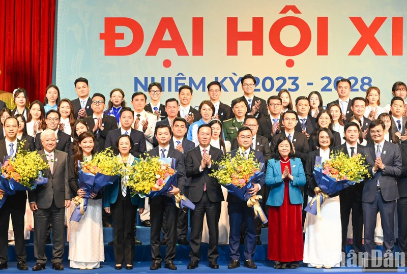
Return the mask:
[(231, 104), (232, 111), (235, 114), (235, 118), (231, 118), (223, 121), (223, 134), (225, 140), (232, 142), (233, 139), (238, 137), (238, 130), (243, 127), (245, 115), (247, 112), (247, 102), (243, 98), (236, 98)]

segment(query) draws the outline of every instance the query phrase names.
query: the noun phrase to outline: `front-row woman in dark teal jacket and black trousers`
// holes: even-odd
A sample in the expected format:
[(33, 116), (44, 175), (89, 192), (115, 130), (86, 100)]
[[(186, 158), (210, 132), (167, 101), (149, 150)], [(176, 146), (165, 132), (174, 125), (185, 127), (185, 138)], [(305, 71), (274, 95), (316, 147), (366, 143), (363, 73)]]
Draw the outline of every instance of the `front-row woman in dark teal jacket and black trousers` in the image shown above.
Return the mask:
[[(134, 165), (140, 159), (130, 154), (133, 142), (129, 135), (121, 135), (115, 143), (119, 150), (118, 157), (128, 166)], [(114, 269), (122, 269), (123, 261), (126, 269), (133, 269), (134, 258), (134, 225), (136, 222), (137, 207), (139, 214), (144, 210), (144, 198), (132, 196), (131, 189), (126, 187), (127, 176), (121, 177), (112, 185), (105, 187), (104, 209), (111, 213), (113, 219), (113, 251), (116, 264)]]

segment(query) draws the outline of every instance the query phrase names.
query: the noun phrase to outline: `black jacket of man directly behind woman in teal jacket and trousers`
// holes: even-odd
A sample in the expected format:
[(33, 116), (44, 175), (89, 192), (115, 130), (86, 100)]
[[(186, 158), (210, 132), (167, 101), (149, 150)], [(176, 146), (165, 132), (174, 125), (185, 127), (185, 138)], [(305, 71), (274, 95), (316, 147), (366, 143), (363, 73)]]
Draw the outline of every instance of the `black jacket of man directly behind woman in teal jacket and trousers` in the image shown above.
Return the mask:
[[(114, 144), (116, 143), (116, 141), (119, 139), (119, 137), (121, 135), (122, 135), (122, 130), (120, 128), (109, 131), (107, 133), (106, 142), (104, 143), (103, 148), (114, 147)], [(144, 137), (144, 134), (141, 131), (138, 131), (135, 129), (130, 129), (130, 139), (133, 144), (131, 154), (134, 157), (140, 159), (141, 154), (145, 153), (147, 151), (146, 137)]]

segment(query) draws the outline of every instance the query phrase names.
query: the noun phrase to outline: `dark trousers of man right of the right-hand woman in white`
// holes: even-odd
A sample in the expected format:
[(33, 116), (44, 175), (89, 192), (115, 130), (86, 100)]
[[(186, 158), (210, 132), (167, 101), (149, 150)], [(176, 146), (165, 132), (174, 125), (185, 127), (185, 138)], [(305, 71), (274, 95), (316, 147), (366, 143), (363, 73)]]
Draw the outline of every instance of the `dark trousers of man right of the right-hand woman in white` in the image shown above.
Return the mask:
[(352, 231), (353, 231), (353, 248), (355, 252), (362, 251), (363, 237), (363, 210), (362, 210), (362, 193), (355, 192), (354, 186), (341, 191), (340, 199), (340, 221), (342, 223), (342, 252), (346, 252), (346, 235), (349, 216), (352, 209)]

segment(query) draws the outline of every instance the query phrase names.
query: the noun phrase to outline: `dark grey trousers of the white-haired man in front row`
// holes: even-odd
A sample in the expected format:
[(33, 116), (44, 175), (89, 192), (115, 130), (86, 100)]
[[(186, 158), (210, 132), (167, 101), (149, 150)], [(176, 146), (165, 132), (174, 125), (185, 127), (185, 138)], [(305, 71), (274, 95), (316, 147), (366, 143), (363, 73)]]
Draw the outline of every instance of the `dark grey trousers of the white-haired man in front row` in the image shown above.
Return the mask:
[(34, 212), (34, 257), (38, 263), (46, 263), (45, 242), (47, 227), (52, 226), (52, 263), (61, 263), (65, 248), (65, 208), (58, 208), (52, 201), (51, 207), (39, 208)]

